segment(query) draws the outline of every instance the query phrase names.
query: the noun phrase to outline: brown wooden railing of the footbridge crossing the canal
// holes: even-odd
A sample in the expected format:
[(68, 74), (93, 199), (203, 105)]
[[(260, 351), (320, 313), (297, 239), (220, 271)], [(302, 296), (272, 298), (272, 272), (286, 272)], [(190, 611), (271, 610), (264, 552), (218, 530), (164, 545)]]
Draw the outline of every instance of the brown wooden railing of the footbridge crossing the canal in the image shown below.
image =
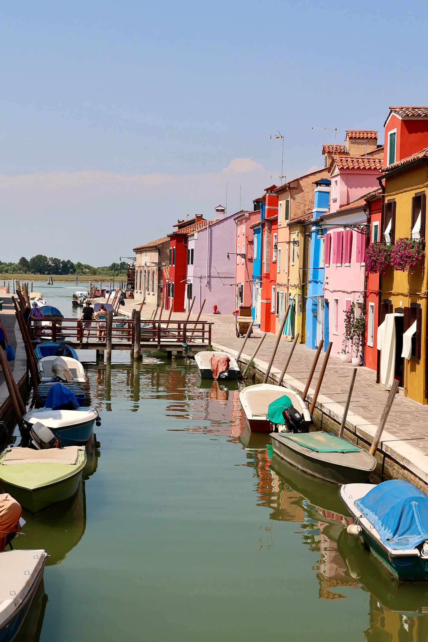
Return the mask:
[[(114, 320), (111, 329), (108, 322), (98, 326), (98, 321), (92, 320), (89, 328), (89, 342), (96, 342), (98, 338), (102, 343), (111, 336), (114, 345), (118, 343), (131, 343), (135, 341), (135, 323), (131, 318), (124, 317), (123, 320)], [(85, 328), (85, 321), (76, 318), (45, 319), (41, 326), (41, 337), (53, 342), (57, 340), (76, 342), (84, 344), (87, 340), (88, 329)], [(206, 343), (211, 345), (212, 323), (207, 321), (152, 321), (141, 320), (141, 343)], [(30, 334), (33, 340), (39, 338), (37, 330), (31, 321)], [(47, 331), (47, 332), (46, 332)]]

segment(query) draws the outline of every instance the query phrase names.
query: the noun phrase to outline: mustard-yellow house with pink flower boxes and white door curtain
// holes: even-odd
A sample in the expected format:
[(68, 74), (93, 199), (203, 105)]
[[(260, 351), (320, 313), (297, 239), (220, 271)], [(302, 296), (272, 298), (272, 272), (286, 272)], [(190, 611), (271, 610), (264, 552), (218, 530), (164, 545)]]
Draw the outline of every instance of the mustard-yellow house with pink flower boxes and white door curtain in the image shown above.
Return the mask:
[[(425, 241), (428, 149), (399, 160), (384, 171), (384, 207), (381, 239), (398, 257), (402, 239)], [(411, 250), (412, 252), (414, 250)], [(379, 376), (387, 387), (398, 379), (404, 395), (426, 404), (427, 360), (427, 256), (415, 268), (389, 268), (381, 278), (378, 347), (381, 345)], [(411, 273), (411, 272), (414, 273)], [(379, 343), (380, 342), (380, 343)]]

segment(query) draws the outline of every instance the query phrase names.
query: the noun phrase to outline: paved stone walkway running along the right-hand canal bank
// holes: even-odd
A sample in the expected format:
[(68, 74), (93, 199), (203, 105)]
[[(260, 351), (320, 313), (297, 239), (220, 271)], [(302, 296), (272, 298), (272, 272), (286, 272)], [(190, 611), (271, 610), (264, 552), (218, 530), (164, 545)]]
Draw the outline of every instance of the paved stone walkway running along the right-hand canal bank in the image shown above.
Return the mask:
[[(130, 310), (134, 305), (135, 307), (139, 307), (139, 304), (133, 304), (132, 301), (126, 300), (126, 307), (122, 309)], [(144, 317), (149, 318), (151, 313), (153, 313), (153, 308), (146, 308), (144, 305), (143, 309)], [(166, 316), (166, 313), (164, 313), (162, 318), (166, 318)], [(175, 313), (171, 318), (184, 319), (185, 316), (185, 313)], [(190, 320), (195, 318), (196, 314), (191, 315)], [(239, 350), (241, 348), (243, 339), (235, 336), (235, 320), (232, 315), (223, 316), (202, 313), (201, 320), (214, 323), (212, 327), (213, 343), (218, 343), (231, 350)], [(259, 329), (255, 329), (252, 337), (248, 339), (244, 349), (244, 356), (246, 356), (247, 359), (254, 351), (261, 334)], [(257, 354), (256, 361), (270, 361), (274, 345), (275, 335), (268, 333)], [(290, 349), (291, 342), (286, 339), (281, 339), (275, 361), (273, 362), (274, 367), (282, 370)], [(298, 343), (291, 358), (287, 374), (295, 377), (295, 379), (298, 379), (304, 384), (314, 355), (314, 350)], [(318, 379), (323, 356), (324, 353), (321, 353), (311, 387), (315, 386), (316, 380)], [(338, 356), (330, 354), (320, 394), (326, 395), (332, 401), (345, 406), (351, 374), (352, 365), (350, 363), (342, 363)], [(375, 381), (376, 373), (374, 370), (364, 367), (358, 369), (350, 403), (350, 412), (354, 412), (366, 421), (377, 425), (386, 403), (388, 390), (383, 386), (377, 385)], [(401, 394), (397, 395), (391, 412), (389, 413), (385, 429), (388, 433), (397, 437), (397, 439), (406, 442), (409, 446), (413, 446), (424, 453), (424, 455), (428, 455), (428, 406), (422, 406)]]

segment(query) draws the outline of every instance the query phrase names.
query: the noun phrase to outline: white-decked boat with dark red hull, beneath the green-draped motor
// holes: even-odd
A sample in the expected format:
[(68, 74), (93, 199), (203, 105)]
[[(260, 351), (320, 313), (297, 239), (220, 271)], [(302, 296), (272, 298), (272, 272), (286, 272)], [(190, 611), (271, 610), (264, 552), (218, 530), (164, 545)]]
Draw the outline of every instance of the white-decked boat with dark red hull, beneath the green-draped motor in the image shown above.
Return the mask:
[(303, 415), (304, 421), (309, 425), (311, 415), (307, 410), (300, 395), (290, 388), (274, 386), (271, 383), (257, 383), (255, 386), (248, 386), (239, 393), (239, 401), (243, 407), (246, 420), (250, 429), (258, 433), (270, 433), (271, 422), (268, 419), (269, 404), (280, 397), (287, 395), (293, 408)]

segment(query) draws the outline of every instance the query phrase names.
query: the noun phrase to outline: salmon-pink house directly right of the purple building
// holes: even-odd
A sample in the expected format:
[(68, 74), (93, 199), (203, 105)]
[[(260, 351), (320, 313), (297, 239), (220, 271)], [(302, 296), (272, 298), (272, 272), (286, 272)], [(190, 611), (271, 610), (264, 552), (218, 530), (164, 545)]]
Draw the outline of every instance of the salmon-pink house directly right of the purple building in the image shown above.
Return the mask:
[[(254, 235), (251, 226), (260, 220), (260, 211), (239, 212), (236, 223), (235, 255), (235, 306), (251, 306), (253, 295)], [(239, 256), (244, 254), (245, 256)]]

